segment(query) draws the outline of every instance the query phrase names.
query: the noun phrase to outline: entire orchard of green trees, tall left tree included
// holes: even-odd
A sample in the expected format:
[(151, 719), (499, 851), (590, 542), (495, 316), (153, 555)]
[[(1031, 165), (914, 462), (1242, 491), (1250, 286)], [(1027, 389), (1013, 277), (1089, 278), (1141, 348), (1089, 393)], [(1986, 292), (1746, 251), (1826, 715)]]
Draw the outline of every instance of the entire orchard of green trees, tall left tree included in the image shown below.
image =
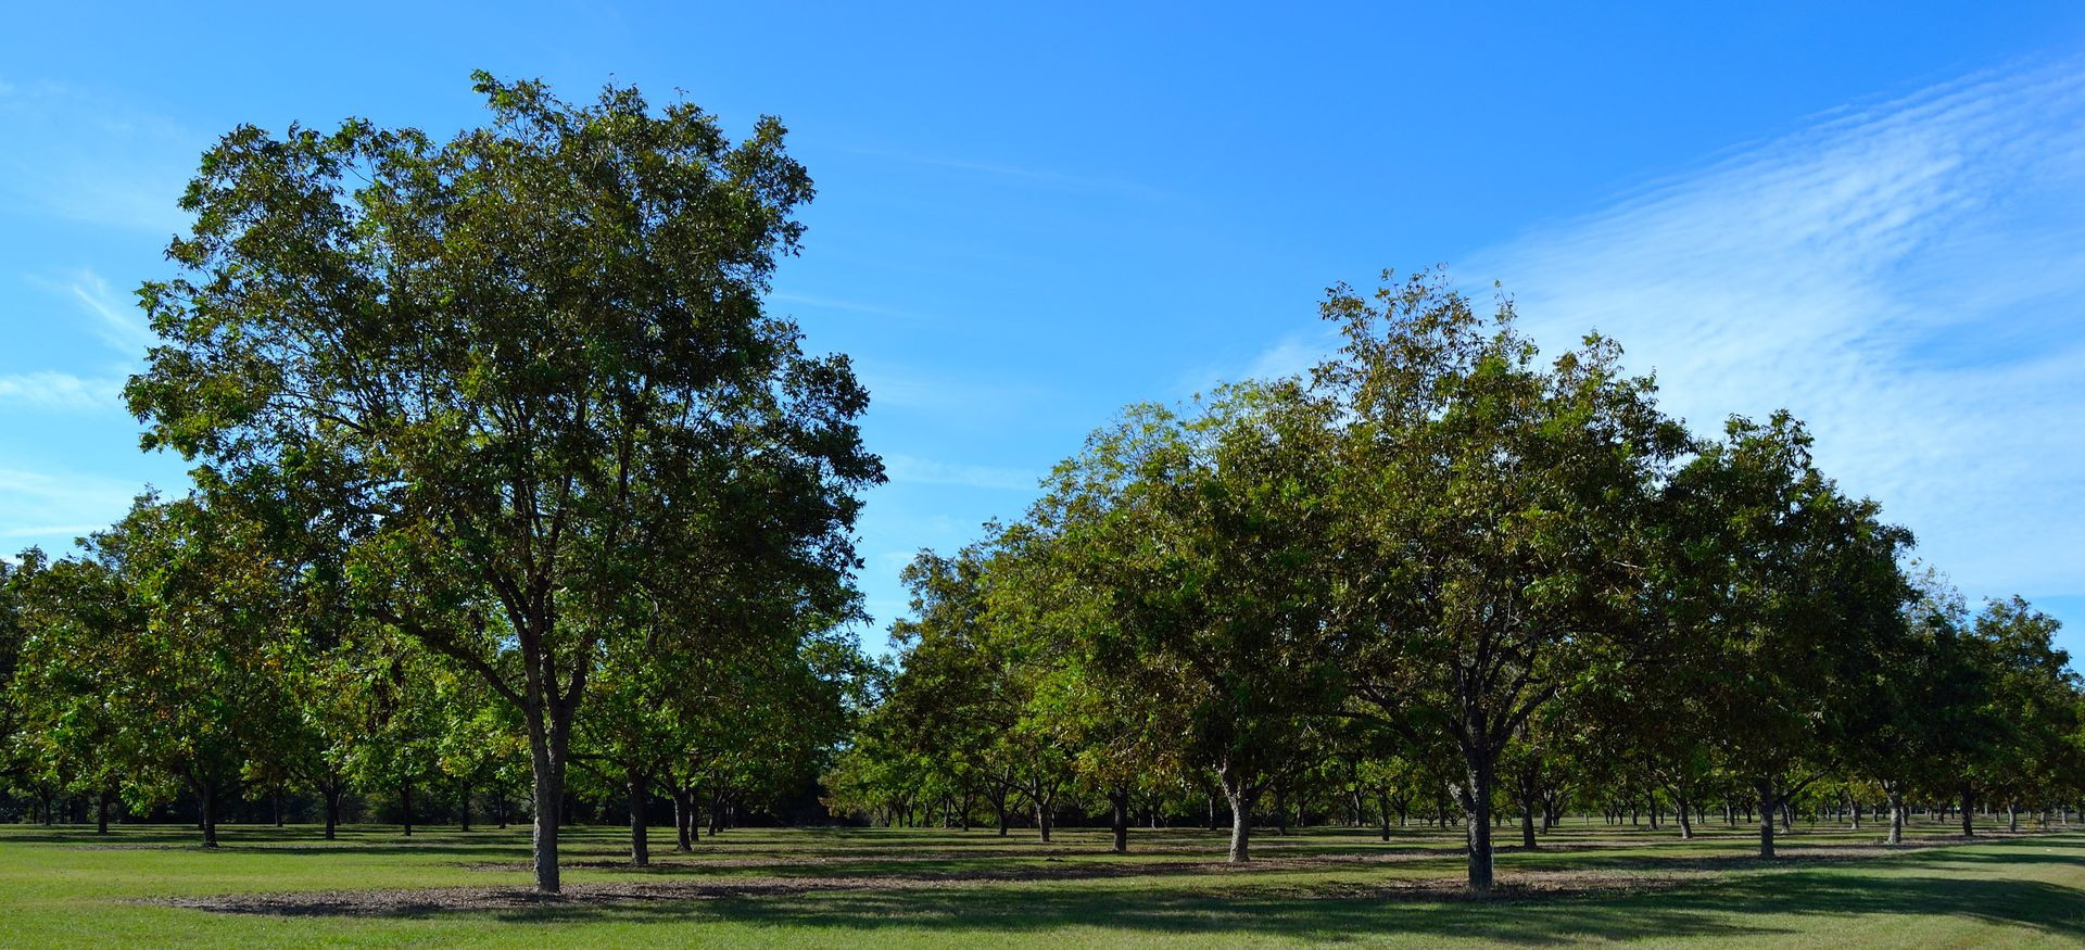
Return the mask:
[(2077, 794), (2047, 617), (1908, 577), (1910, 533), (1795, 419), (1695, 438), (1612, 342), (1545, 362), (1428, 275), (1334, 288), (1345, 348), (1309, 379), (1134, 406), (1026, 519), (924, 554), (886, 677), (840, 633), (867, 394), (761, 304), (813, 194), (782, 125), (477, 88), (492, 123), (446, 142), (204, 154), (125, 394), (196, 490), (8, 569), (21, 788), (186, 794), (208, 840), (227, 796), (411, 810), (523, 758), (544, 892), (573, 765), (630, 802), (638, 863), (653, 798), (686, 840), (705, 790), (811, 773), (1042, 835), (1099, 794), (1118, 846), (1138, 802), (1207, 790), (1232, 860), (1326, 788), (1355, 821), (1445, 796), (1476, 890), (1499, 802), (1524, 844), (1572, 802), (1662, 796), (1683, 833), (1722, 802), (1772, 854), (1826, 788), (1885, 798), (1893, 838), (1941, 792)]

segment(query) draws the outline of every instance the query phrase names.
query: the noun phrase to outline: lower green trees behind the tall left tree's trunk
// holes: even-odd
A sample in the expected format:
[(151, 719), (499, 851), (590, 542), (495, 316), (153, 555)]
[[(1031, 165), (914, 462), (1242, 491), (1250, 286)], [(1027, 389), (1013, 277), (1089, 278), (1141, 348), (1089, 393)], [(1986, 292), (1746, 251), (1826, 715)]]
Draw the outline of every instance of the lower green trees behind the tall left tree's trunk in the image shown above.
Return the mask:
[[(183, 802), (204, 846), (234, 800), (277, 825), (286, 800), (309, 800), (327, 840), (369, 800), (407, 835), (450, 804), (469, 827), (473, 798), (498, 825), (530, 815), (513, 704), (396, 629), (311, 602), (321, 588), (244, 527), (200, 494), (146, 496), (79, 556), (0, 565), (0, 785), (44, 821), (92, 802), (100, 831), (113, 810)], [(623, 802), (640, 865), (661, 800), (682, 850), (705, 806), (713, 827), (738, 806), (780, 813), (844, 735), (865, 662), (830, 629), (605, 656), (567, 796)]]

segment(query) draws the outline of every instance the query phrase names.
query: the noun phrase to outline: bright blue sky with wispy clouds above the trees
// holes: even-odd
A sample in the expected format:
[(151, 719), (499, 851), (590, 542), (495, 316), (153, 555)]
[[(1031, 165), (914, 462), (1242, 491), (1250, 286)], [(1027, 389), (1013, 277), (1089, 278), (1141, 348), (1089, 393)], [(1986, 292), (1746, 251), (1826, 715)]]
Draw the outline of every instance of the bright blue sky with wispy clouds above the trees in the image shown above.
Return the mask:
[(2085, 6), (290, 6), (8, 15), (0, 548), (183, 481), (115, 394), (215, 135), (450, 133), (484, 67), (790, 125), (819, 198), (771, 306), (874, 394), (884, 623), (911, 552), (1122, 404), (1301, 369), (1328, 283), (1447, 265), (1701, 429), (1795, 410), (1966, 594), (2085, 648)]

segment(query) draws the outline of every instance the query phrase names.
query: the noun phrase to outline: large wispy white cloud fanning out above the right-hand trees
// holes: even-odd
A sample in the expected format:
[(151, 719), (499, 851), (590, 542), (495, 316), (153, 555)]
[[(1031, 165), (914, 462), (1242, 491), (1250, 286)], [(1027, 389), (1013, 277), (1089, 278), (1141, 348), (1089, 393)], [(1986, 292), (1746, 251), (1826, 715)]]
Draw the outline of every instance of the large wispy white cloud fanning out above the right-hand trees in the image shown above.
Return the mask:
[(1697, 429), (1791, 408), (1977, 594), (2085, 592), (2085, 69), (1818, 119), (1457, 265)]

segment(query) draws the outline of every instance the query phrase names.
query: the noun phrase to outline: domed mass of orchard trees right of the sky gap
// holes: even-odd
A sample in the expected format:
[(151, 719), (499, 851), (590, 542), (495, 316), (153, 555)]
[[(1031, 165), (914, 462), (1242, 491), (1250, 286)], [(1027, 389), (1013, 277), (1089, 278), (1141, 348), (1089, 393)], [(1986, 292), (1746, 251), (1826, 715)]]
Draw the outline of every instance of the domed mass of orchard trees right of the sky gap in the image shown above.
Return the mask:
[(1662, 796), (1683, 833), (1739, 804), (1772, 856), (1820, 783), (1887, 800), (1891, 842), (1918, 796), (1968, 833), (1979, 796), (2079, 794), (2054, 621), (1908, 577), (1910, 533), (1789, 415), (1693, 438), (1612, 342), (1543, 362), (1430, 275), (1324, 317), (1345, 348), (1307, 381), (1132, 406), (1024, 521), (922, 554), (838, 802), (1003, 829), (1013, 800), (1047, 838), (1084, 788), (1122, 848), (1132, 802), (1209, 790), (1243, 863), (1270, 798), (1387, 823), (1439, 792), (1489, 890), (1499, 802), (1526, 846), (1566, 804)]

